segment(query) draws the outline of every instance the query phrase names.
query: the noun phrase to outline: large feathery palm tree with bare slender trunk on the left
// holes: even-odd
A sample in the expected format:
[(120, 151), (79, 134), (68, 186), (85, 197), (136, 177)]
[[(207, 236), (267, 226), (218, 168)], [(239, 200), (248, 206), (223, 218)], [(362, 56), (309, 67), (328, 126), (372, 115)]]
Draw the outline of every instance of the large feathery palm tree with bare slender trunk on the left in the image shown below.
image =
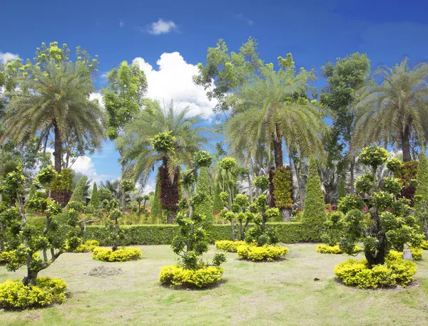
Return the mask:
[(89, 95), (95, 90), (90, 74), (77, 63), (50, 61), (44, 70), (30, 65), (28, 76), (19, 78), (20, 88), (9, 102), (4, 137), (21, 142), (41, 132), (49, 139), (54, 133), (55, 169), (61, 172), (63, 145), (76, 137), (78, 146), (101, 147), (103, 110)]

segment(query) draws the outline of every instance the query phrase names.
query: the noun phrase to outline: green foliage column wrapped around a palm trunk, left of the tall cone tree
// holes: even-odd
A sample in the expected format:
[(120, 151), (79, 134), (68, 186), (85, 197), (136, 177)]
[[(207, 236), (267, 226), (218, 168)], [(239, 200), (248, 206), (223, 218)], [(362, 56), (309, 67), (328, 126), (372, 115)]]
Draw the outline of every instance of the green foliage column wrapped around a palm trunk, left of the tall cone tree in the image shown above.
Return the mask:
[(272, 184), (275, 206), (279, 209), (292, 209), (292, 174), (290, 167), (275, 169)]

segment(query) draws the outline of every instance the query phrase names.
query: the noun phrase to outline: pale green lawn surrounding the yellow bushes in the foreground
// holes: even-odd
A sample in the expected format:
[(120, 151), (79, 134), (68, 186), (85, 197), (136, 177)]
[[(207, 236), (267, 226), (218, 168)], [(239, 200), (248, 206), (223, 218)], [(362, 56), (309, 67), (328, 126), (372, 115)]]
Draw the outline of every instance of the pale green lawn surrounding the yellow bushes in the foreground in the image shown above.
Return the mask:
[[(315, 244), (287, 247), (287, 259), (275, 263), (228, 253), (224, 283), (209, 290), (158, 284), (160, 268), (175, 259), (169, 246), (141, 246), (143, 259), (125, 263), (66, 253), (41, 275), (63, 278), (71, 298), (43, 310), (0, 312), (0, 325), (428, 325), (427, 261), (417, 263), (418, 285), (357, 290), (333, 274), (347, 256), (315, 253)], [(99, 265), (120, 267), (123, 275), (87, 275)], [(1, 282), (23, 275), (0, 267)]]

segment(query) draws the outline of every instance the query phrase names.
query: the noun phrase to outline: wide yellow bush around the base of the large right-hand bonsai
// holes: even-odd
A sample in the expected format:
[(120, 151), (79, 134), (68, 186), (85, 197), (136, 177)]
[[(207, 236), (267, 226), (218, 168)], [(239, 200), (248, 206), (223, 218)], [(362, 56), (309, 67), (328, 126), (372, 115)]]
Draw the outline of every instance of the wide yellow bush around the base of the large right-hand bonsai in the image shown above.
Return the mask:
[(394, 285), (405, 287), (416, 273), (416, 264), (404, 261), (397, 255), (387, 256), (384, 265), (373, 265), (370, 269), (367, 260), (348, 259), (335, 266), (335, 275), (345, 285), (357, 288), (385, 288)]

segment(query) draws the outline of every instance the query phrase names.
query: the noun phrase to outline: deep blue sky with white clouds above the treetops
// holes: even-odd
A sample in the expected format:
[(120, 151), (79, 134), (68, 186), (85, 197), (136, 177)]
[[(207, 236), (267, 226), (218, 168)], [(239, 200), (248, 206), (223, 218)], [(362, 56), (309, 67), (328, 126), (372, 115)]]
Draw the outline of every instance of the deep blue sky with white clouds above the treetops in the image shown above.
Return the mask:
[[(210, 115), (211, 103), (189, 84), (189, 76), (218, 38), (236, 50), (253, 36), (265, 61), (290, 52), (297, 65), (318, 71), (356, 51), (367, 53), (373, 67), (403, 56), (418, 63), (428, 59), (427, 12), (427, 1), (397, 0), (78, 0), (24, 6), (7, 1), (1, 5), (0, 61), (6, 53), (32, 58), (42, 41), (81, 46), (99, 56), (96, 86), (101, 88), (103, 73), (139, 58), (148, 73), (149, 95), (193, 103), (195, 112)], [(323, 80), (316, 85), (322, 87)], [(117, 159), (114, 144), (107, 142), (102, 153), (78, 163), (94, 179), (113, 179), (120, 174)]]

